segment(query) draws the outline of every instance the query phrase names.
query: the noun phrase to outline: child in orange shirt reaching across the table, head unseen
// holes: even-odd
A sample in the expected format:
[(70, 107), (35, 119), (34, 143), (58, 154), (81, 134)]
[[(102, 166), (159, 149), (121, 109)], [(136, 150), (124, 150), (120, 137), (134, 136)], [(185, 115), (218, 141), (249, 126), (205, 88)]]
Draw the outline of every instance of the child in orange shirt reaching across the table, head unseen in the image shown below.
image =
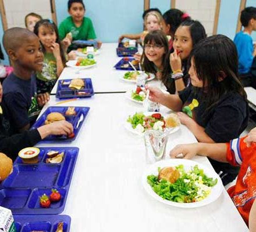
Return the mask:
[(227, 192), (247, 225), (253, 224), (256, 211), (252, 211), (254, 215), (250, 215), (250, 220), (249, 214), (256, 197), (256, 128), (248, 136), (233, 139), (229, 143), (183, 144), (170, 151), (170, 157), (176, 158), (178, 154), (183, 154), (183, 158), (193, 158), (196, 154), (207, 155), (216, 161), (241, 166), (236, 185), (227, 189)]

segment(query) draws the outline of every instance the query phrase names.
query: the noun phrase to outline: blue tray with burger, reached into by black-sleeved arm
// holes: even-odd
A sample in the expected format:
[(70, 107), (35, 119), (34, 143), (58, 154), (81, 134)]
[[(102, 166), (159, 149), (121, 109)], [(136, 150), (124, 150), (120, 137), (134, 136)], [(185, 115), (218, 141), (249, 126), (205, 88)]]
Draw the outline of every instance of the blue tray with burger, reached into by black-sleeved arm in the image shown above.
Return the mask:
[[(74, 132), (74, 137), (69, 138), (65, 135), (49, 135), (45, 139), (43, 139), (41, 142), (45, 141), (56, 141), (56, 140), (62, 140), (62, 142), (72, 142), (73, 140), (76, 139), (77, 134), (79, 133), (81, 126), (84, 122), (84, 119), (86, 118), (88, 111), (90, 110), (90, 107), (75, 107), (76, 115), (65, 115), (65, 112), (67, 111), (67, 106), (51, 106), (48, 107), (47, 110), (44, 111), (44, 113), (40, 116), (40, 118), (35, 121), (34, 125), (31, 127), (31, 129), (36, 129), (42, 125), (45, 124), (45, 120), (47, 118), (47, 115), (52, 112), (58, 112), (61, 113), (63, 116), (65, 116), (66, 121), (70, 122), (73, 125), (73, 132)], [(81, 115), (83, 114), (83, 120), (79, 123), (79, 126), (77, 126), (79, 119)]]

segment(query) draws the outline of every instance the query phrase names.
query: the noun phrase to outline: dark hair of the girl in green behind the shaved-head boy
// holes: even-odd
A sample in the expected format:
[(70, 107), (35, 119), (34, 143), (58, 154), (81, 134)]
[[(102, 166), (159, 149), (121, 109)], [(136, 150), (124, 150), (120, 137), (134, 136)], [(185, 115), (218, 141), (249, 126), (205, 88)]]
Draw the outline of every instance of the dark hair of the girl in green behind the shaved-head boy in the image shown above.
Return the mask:
[[(42, 19), (42, 20), (38, 21), (35, 24), (35, 27), (34, 27), (34, 34), (35, 35), (38, 36), (39, 28), (41, 26), (51, 28), (55, 32), (55, 34), (56, 34), (56, 41), (55, 42), (59, 44), (59, 49), (61, 50), (62, 63), (65, 66), (65, 64), (66, 64), (65, 50), (63, 49), (63, 46), (61, 44), (61, 39), (59, 39), (59, 32), (58, 32), (58, 28), (57, 28), (56, 24), (54, 23), (54, 21), (52, 21), (50, 19)], [(42, 45), (42, 42), (41, 42), (41, 45)], [(45, 48), (44, 48), (43, 45), (42, 45), (42, 52), (45, 53)]]

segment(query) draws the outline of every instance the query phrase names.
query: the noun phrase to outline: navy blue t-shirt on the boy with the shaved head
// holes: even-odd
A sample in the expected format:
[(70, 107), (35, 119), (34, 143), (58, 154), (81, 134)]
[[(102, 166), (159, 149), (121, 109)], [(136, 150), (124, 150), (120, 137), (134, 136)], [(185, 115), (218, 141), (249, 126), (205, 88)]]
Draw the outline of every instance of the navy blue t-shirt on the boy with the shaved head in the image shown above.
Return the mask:
[(35, 77), (24, 80), (10, 74), (3, 81), (3, 102), (13, 133), (35, 122), (40, 109), (37, 104)]

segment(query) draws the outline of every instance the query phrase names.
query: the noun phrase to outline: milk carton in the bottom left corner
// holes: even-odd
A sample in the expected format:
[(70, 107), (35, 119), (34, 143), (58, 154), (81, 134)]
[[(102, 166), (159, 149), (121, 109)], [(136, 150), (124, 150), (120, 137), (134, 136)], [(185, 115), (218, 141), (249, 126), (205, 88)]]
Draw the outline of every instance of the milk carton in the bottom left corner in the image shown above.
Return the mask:
[(12, 211), (0, 206), (0, 232), (16, 232)]

